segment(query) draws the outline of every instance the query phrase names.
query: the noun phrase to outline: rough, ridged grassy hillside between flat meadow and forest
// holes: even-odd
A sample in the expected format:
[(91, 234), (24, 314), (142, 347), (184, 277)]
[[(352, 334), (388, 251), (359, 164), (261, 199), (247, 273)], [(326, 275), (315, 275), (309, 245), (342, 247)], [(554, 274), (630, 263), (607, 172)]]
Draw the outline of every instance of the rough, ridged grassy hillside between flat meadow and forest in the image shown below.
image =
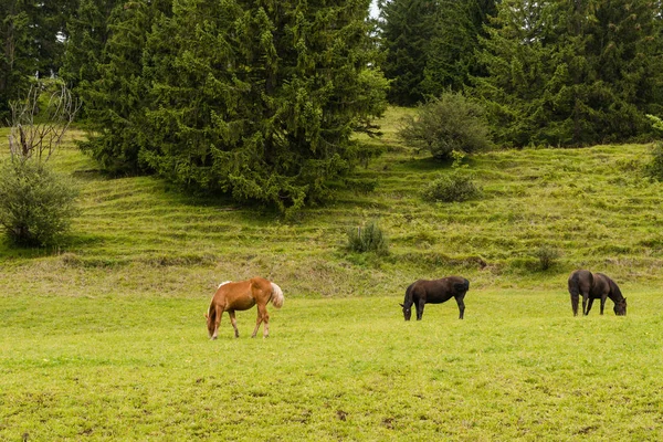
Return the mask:
[[(101, 292), (198, 296), (218, 281), (260, 274), (291, 296), (317, 297), (396, 295), (418, 277), (451, 273), (467, 276), (473, 287), (564, 292), (566, 276), (580, 266), (627, 287), (662, 281), (663, 187), (640, 171), (650, 146), (476, 155), (467, 164), (483, 198), (428, 203), (420, 191), (451, 165), (399, 143), (404, 112), (390, 109), (382, 139), (364, 139), (386, 150), (356, 173), (375, 180), (375, 191), (340, 189), (294, 222), (261, 208), (191, 198), (150, 177), (106, 179), (67, 145), (53, 162), (82, 190), (71, 241), (56, 251), (1, 245), (1, 282), (39, 291), (45, 280), (50, 291), (73, 294), (93, 277)], [(0, 134), (3, 155), (6, 146)], [(370, 220), (387, 233), (389, 256), (344, 250), (346, 231)], [(534, 256), (540, 248), (560, 252), (546, 272)]]

